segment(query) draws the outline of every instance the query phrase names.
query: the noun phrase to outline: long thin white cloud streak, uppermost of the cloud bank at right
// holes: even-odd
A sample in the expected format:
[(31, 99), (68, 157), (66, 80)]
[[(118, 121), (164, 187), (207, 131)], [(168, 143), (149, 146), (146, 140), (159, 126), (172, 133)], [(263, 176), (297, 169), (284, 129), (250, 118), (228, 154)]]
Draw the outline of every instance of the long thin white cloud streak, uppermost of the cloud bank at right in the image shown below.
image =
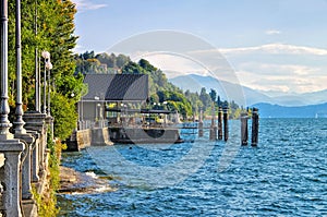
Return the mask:
[(268, 44), (256, 47), (243, 47), (243, 48), (225, 48), (219, 49), (222, 55), (246, 55), (254, 52), (264, 52), (270, 55), (315, 55), (327, 56), (327, 49), (294, 46), (286, 44)]

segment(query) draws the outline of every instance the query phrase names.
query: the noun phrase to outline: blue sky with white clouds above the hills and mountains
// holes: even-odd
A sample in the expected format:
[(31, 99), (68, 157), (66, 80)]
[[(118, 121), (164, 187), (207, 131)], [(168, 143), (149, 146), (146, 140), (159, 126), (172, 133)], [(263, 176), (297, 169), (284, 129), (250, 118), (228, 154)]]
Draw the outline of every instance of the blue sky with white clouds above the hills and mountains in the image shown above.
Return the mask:
[(76, 52), (126, 52), (168, 77), (214, 73), (270, 95), (327, 89), (327, 0), (73, 2)]

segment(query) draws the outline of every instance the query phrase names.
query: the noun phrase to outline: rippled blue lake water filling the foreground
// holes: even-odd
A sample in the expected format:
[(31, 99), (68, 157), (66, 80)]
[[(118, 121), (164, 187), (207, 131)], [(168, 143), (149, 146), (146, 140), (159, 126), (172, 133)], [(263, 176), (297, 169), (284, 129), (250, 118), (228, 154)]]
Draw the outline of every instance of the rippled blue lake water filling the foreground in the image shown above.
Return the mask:
[[(262, 119), (257, 147), (230, 141), (114, 145), (63, 154), (114, 192), (59, 195), (59, 216), (327, 216), (327, 119)], [(250, 136), (251, 137), (251, 136)]]

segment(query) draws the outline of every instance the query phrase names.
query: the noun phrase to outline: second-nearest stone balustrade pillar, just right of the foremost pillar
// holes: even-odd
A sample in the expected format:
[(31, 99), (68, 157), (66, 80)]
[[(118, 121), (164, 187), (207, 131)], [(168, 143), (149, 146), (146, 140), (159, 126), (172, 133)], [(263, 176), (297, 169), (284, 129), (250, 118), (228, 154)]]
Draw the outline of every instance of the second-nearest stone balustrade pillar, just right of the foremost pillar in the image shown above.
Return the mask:
[(32, 170), (31, 170), (31, 154), (35, 138), (31, 134), (15, 134), (15, 138), (23, 140), (25, 142), (25, 152), (22, 155), (22, 198), (32, 198)]

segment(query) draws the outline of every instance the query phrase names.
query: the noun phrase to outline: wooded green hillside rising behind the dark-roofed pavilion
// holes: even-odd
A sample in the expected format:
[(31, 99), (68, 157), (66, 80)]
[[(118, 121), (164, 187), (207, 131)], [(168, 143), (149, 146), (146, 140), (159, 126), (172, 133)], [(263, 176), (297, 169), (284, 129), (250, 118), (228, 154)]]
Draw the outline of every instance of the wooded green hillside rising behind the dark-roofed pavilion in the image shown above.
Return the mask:
[(207, 93), (202, 88), (201, 93), (183, 92), (168, 81), (166, 74), (147, 60), (141, 59), (133, 62), (124, 55), (108, 55), (94, 51), (86, 51), (75, 56), (75, 74), (87, 73), (122, 73), (122, 74), (147, 74), (149, 77), (149, 99), (148, 105), (153, 109), (177, 110), (186, 120), (193, 114), (197, 116), (201, 110), (205, 114), (211, 113), (211, 106), (225, 106), (230, 108), (230, 118), (239, 118), (241, 108), (234, 103), (220, 101), (220, 97), (215, 89)]

